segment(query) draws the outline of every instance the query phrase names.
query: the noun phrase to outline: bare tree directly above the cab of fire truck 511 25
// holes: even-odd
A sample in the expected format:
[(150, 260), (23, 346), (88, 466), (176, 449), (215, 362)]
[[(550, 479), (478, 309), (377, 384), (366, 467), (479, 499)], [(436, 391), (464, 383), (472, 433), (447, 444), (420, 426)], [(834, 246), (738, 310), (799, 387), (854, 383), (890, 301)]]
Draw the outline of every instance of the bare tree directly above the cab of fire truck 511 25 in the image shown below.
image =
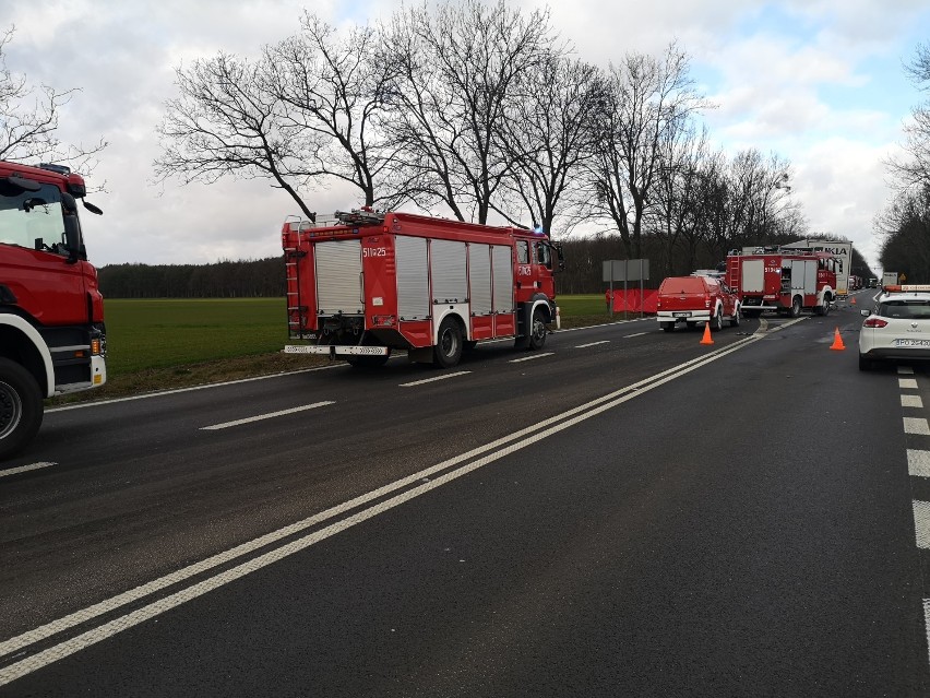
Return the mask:
[[(513, 164), (503, 180), (502, 205), (491, 206), (511, 223), (508, 211), (528, 213), (547, 232), (560, 211), (577, 206), (581, 166), (593, 156), (596, 131), (592, 115), (604, 108), (599, 71), (550, 51), (518, 78), (518, 93), (501, 122), (500, 144)], [(516, 201), (511, 206), (510, 202)]]

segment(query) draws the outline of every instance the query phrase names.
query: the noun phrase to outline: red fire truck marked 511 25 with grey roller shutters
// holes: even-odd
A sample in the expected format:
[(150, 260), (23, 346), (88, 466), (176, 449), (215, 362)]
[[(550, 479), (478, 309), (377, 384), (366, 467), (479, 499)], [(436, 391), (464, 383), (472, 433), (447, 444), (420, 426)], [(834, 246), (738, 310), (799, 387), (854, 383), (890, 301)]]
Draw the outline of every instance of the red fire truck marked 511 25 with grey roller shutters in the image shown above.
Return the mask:
[(454, 366), (481, 340), (540, 348), (558, 320), (561, 246), (544, 233), (366, 209), (285, 222), (285, 353)]

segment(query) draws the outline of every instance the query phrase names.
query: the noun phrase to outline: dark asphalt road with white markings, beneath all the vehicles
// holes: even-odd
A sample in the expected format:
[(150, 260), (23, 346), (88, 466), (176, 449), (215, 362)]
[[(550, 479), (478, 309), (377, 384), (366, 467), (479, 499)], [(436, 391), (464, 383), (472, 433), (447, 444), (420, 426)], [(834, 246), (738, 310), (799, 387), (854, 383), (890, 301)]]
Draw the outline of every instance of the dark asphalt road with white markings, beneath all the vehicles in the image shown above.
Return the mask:
[(930, 370), (860, 372), (860, 323), (50, 412), (0, 471), (0, 695), (928, 695)]

